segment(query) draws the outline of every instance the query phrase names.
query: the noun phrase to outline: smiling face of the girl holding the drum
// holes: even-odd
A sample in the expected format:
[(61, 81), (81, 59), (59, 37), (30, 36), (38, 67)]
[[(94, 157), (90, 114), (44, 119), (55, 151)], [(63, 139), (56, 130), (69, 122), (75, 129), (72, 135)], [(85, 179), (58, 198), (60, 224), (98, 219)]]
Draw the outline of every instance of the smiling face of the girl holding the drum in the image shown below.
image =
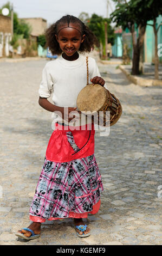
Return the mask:
[[(62, 25), (59, 27), (59, 30), (68, 25)], [(74, 54), (76, 55), (77, 51), (80, 48), (81, 43), (85, 40), (86, 35), (81, 35), (80, 28), (72, 23), (69, 24), (73, 28), (63, 28), (56, 36), (57, 42), (59, 42), (60, 48), (63, 51), (64, 57), (66, 59), (72, 59)], [(75, 29), (76, 28), (76, 29)], [(77, 31), (79, 29), (79, 31)]]

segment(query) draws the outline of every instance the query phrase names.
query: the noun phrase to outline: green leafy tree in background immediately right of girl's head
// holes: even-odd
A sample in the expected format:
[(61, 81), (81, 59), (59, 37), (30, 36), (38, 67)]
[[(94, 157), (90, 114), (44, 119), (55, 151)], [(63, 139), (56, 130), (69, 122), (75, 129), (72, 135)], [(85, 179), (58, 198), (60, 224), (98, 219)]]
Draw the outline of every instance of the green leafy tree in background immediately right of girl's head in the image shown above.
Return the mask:
[(111, 27), (111, 19), (103, 18), (97, 14), (93, 14), (88, 22), (89, 29), (95, 34), (102, 48), (102, 56), (106, 56), (105, 50), (105, 22), (107, 22), (107, 43), (114, 44), (114, 29)]

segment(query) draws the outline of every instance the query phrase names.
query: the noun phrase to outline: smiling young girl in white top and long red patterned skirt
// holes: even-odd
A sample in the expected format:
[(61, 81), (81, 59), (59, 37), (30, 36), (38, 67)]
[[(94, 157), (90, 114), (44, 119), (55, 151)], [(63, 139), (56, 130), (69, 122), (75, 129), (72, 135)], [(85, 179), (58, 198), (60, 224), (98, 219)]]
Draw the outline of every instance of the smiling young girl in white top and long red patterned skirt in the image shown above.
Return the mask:
[[(74, 218), (78, 236), (89, 236), (90, 229), (82, 218), (99, 211), (103, 191), (94, 156), (94, 124), (82, 121), (79, 130), (72, 130), (68, 124), (73, 115), (68, 119), (64, 117), (66, 107), (68, 114), (76, 112), (77, 95), (87, 83), (86, 57), (80, 53), (90, 52), (96, 38), (81, 20), (70, 15), (51, 25), (46, 38), (51, 52), (60, 57), (48, 62), (43, 69), (39, 104), (54, 112), (55, 130), (49, 139), (30, 206), (33, 223), (16, 234), (28, 240), (40, 236), (42, 222), (64, 218)], [(88, 66), (89, 82), (104, 86), (95, 59), (89, 57)], [(54, 104), (47, 100), (51, 93)]]

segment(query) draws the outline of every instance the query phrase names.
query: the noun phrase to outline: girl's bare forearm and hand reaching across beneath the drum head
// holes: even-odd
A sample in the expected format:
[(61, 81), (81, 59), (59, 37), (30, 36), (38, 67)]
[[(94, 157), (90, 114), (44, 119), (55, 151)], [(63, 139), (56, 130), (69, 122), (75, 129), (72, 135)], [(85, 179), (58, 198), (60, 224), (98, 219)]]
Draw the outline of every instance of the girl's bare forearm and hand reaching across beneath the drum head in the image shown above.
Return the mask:
[[(64, 119), (64, 107), (56, 106), (56, 105), (50, 103), (46, 98), (42, 98), (42, 97), (39, 98), (38, 103), (42, 108), (46, 109), (47, 111), (50, 111), (50, 112), (57, 111), (57, 114), (59, 114), (59, 112), (60, 112), (60, 116)], [(71, 111), (75, 112), (76, 107), (68, 108), (68, 120), (67, 120), (68, 122), (70, 122), (73, 119), (73, 118), (69, 118), (69, 113)], [(74, 113), (74, 115), (75, 115), (75, 113)], [(66, 117), (65, 117), (65, 119), (66, 119)]]

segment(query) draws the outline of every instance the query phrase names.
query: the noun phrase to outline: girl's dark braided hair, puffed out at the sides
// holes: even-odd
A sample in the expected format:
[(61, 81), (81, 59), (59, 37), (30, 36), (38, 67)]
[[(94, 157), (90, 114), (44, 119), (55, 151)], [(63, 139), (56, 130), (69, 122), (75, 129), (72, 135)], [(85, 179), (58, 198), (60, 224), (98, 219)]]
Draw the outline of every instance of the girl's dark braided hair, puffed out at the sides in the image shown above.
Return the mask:
[(60, 55), (62, 50), (60, 48), (59, 42), (56, 40), (55, 34), (58, 33), (59, 27), (63, 25), (69, 26), (69, 23), (78, 26), (81, 32), (81, 35), (86, 35), (85, 40), (81, 43), (79, 52), (90, 52), (91, 49), (94, 49), (94, 46), (99, 46), (98, 39), (93, 34), (92, 31), (83, 23), (80, 19), (73, 15), (66, 15), (63, 16), (60, 20), (53, 23), (45, 32), (46, 35), (46, 46), (49, 47), (49, 50), (52, 54)]

